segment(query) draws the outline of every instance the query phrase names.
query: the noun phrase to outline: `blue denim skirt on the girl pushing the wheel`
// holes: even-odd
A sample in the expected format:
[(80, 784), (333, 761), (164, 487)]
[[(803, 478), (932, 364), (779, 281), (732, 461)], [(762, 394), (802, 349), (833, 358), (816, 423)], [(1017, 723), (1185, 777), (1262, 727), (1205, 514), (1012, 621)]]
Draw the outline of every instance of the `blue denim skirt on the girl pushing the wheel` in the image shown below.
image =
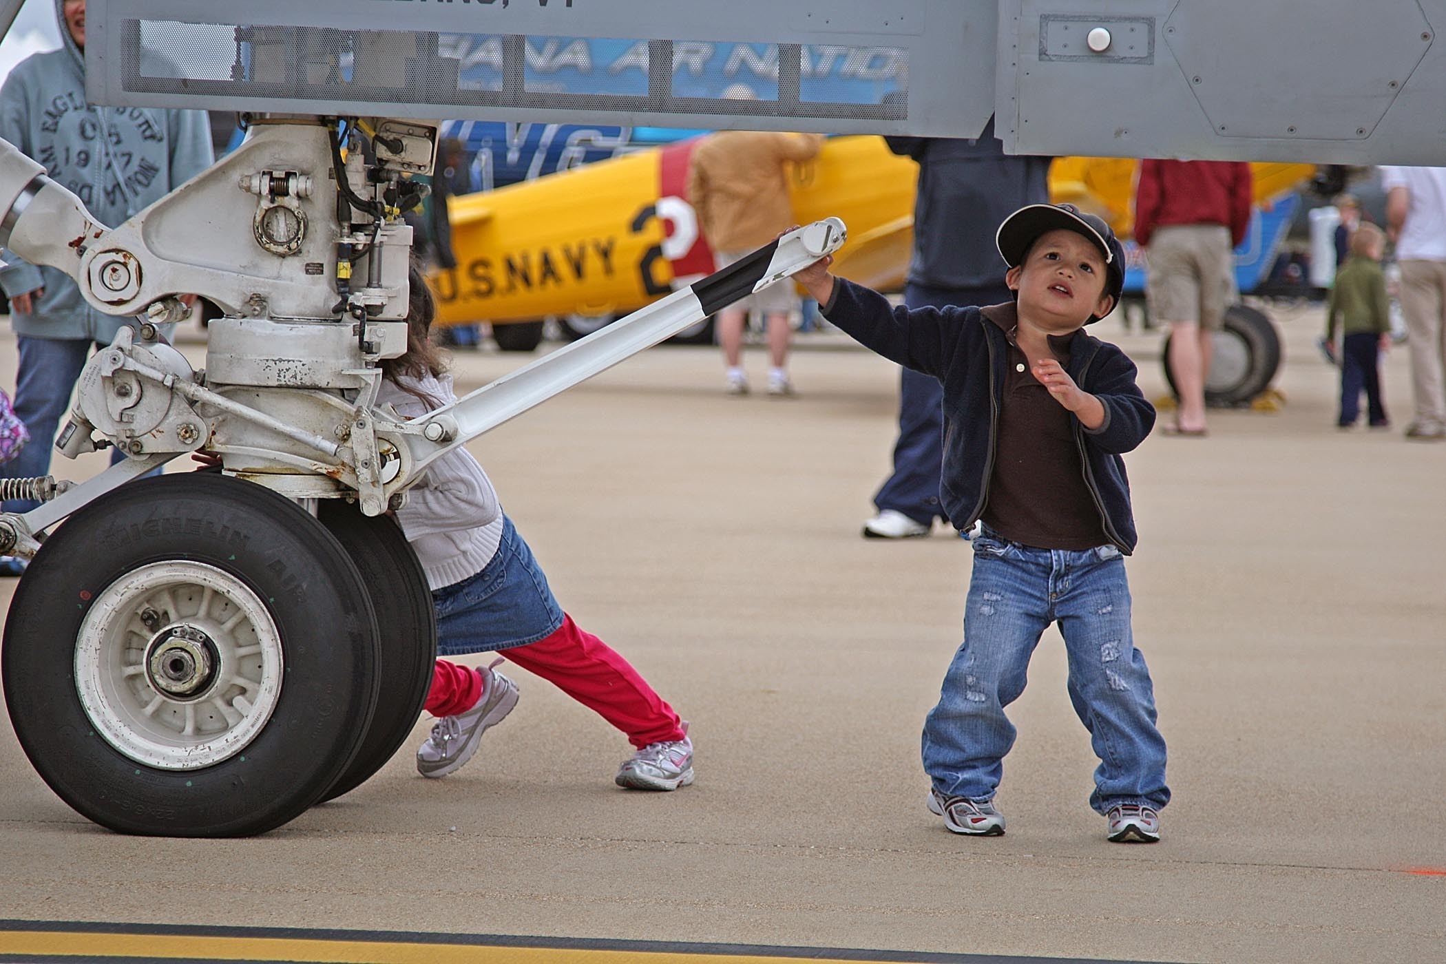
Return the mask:
[(466, 656), (525, 646), (562, 624), (562, 608), (542, 567), (503, 517), (502, 542), (492, 559), (461, 582), (432, 590), (437, 607), (437, 655)]

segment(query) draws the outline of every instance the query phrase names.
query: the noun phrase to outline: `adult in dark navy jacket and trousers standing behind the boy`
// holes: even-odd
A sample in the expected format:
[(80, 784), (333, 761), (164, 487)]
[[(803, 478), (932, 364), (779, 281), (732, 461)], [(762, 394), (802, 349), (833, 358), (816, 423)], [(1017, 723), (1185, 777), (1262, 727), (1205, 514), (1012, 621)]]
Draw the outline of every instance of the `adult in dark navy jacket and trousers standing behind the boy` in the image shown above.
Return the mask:
[[(995, 305), (1009, 301), (999, 277), (993, 233), (1025, 204), (1050, 199), (1051, 158), (1008, 156), (993, 121), (977, 139), (885, 137), (889, 150), (918, 162), (914, 254), (904, 304), (910, 308)], [(894, 473), (873, 496), (878, 512), (863, 523), (866, 539), (927, 536), (943, 520), (938, 475), (944, 413), (938, 382), (899, 370), (899, 435)]]

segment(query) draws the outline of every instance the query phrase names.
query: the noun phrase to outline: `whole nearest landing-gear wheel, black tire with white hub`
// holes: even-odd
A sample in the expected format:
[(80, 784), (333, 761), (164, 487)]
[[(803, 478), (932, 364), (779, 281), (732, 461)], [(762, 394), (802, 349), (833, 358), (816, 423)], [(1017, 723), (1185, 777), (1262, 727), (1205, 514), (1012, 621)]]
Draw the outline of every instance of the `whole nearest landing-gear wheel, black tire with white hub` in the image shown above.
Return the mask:
[(126, 834), (260, 834), (351, 763), (377, 700), (357, 567), (308, 513), (210, 473), (123, 486), (16, 587), (4, 697), (40, 778)]

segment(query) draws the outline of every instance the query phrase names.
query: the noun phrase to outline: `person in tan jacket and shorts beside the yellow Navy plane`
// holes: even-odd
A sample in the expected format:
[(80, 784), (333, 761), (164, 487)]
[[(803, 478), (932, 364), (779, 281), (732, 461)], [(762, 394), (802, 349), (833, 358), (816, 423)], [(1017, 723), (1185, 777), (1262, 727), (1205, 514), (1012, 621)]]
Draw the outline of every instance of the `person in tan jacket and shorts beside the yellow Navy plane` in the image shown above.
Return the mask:
[[(724, 130), (709, 134), (688, 163), (688, 202), (698, 214), (703, 237), (717, 267), (732, 264), (794, 224), (788, 199), (788, 165), (810, 160), (823, 146), (821, 134)], [(742, 367), (743, 324), (749, 309), (768, 319), (768, 393), (794, 395), (788, 380), (790, 315), (798, 296), (788, 282), (750, 295), (717, 314), (719, 341), (727, 363), (727, 390), (748, 395)]]

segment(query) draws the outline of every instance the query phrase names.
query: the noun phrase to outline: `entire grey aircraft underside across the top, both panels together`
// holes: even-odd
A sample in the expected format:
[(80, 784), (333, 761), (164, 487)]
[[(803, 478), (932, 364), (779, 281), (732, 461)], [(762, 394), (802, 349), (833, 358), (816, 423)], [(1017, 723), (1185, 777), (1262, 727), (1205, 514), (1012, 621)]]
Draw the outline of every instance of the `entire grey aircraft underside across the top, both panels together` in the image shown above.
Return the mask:
[(1446, 162), (1446, 0), (97, 0), (90, 97)]

